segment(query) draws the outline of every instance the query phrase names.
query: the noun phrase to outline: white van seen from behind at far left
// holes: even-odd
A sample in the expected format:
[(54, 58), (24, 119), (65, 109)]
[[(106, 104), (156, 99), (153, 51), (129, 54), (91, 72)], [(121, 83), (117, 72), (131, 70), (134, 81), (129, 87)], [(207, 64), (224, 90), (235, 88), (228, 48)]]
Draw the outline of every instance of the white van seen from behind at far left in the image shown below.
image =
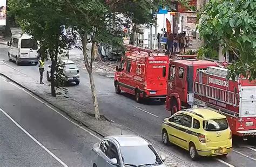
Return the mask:
[(30, 35), (12, 35), (11, 41), (8, 42), (8, 46), (10, 46), (8, 52), (9, 61), (15, 61), (17, 65), (20, 63), (38, 64), (38, 44)]

